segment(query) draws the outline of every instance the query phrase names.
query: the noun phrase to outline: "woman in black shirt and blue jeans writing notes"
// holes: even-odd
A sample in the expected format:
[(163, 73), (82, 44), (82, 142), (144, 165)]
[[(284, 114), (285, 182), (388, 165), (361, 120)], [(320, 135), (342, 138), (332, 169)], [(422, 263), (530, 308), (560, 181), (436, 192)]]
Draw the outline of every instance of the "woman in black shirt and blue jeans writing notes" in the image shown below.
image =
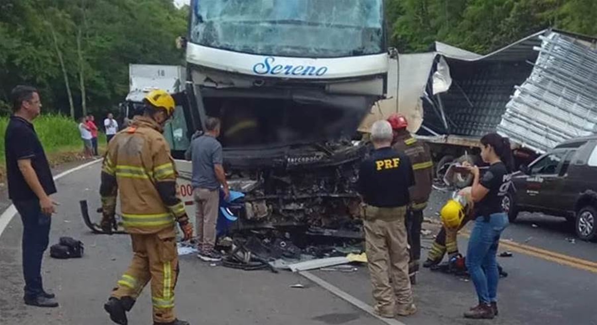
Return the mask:
[(470, 234), (466, 267), (475, 284), (479, 305), (464, 313), (467, 318), (494, 318), (497, 315), (496, 253), (501, 232), (509, 224), (501, 201), (511, 183), (512, 152), (510, 141), (497, 133), (481, 138), (481, 158), (490, 164), (483, 177), (479, 168), (470, 167), (475, 177), (472, 198), (475, 201), (475, 226)]

